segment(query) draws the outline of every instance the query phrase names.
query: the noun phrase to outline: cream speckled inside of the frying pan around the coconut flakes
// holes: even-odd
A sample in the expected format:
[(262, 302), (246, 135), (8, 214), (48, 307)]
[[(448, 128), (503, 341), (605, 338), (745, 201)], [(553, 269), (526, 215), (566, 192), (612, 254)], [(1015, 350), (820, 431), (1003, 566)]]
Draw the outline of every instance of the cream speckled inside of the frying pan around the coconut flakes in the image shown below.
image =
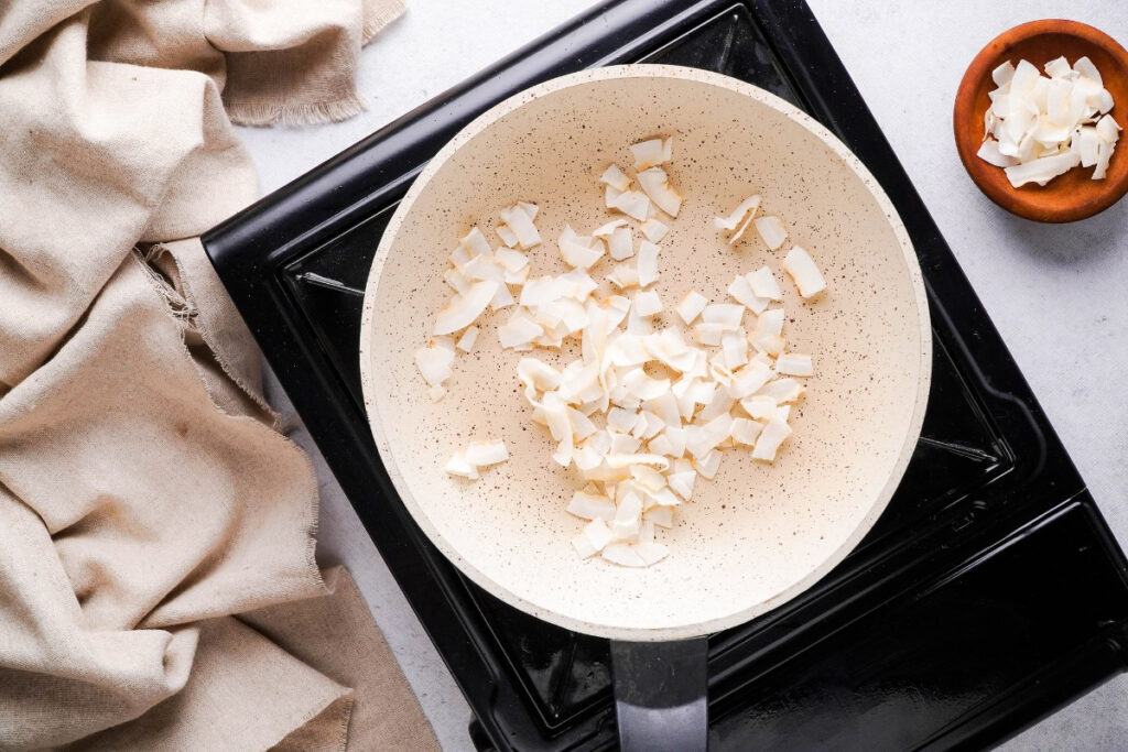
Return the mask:
[[(784, 335), (814, 354), (817, 375), (792, 412), (794, 434), (775, 465), (728, 450), (712, 483), (698, 480), (678, 525), (659, 530), (670, 556), (646, 569), (581, 560), (569, 540), (582, 521), (564, 508), (574, 469), (550, 459), (529, 419), (515, 366), (487, 312), (474, 352), (459, 354), (449, 393), (432, 404), (413, 362), (435, 311), (457, 239), (478, 223), (495, 245), (497, 210), (540, 206), (545, 242), (534, 276), (566, 271), (565, 222), (581, 232), (610, 219), (598, 177), (628, 144), (675, 136), (666, 166), (686, 196), (661, 242), (654, 287), (673, 306), (690, 287), (713, 301), (738, 273), (767, 264), (784, 289)], [(791, 239), (768, 251), (735, 248), (713, 229), (746, 196), (764, 196)], [(636, 233), (636, 241), (638, 239)], [(828, 291), (803, 302), (781, 262), (791, 242), (821, 267)], [(609, 259), (592, 269), (601, 280)], [(731, 302), (731, 301), (728, 301)], [(751, 313), (744, 325), (754, 326)], [(632, 640), (680, 639), (746, 621), (809, 587), (840, 561), (885, 507), (920, 430), (931, 336), (920, 271), (888, 197), (828, 131), (777, 97), (694, 69), (628, 65), (585, 71), (512, 97), (460, 132), (396, 211), (369, 277), (361, 335), (364, 399), (380, 455), (415, 520), (474, 582), (547, 621)], [(537, 350), (562, 365), (578, 355)], [(509, 462), (478, 481), (447, 476), (468, 441), (503, 439)]]

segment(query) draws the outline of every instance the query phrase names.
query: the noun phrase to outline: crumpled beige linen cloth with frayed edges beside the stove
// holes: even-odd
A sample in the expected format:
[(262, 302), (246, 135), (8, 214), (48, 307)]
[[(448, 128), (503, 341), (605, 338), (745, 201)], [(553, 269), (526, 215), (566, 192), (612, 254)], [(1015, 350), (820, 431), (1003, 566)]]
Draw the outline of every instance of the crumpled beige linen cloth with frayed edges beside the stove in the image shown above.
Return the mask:
[(435, 749), (202, 231), (399, 0), (0, 0), (0, 750)]

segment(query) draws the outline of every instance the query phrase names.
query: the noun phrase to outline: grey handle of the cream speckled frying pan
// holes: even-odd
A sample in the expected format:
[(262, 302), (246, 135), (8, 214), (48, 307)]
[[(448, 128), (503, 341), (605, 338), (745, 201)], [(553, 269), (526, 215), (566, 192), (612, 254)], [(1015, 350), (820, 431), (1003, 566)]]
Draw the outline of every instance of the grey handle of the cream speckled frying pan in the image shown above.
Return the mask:
[(623, 752), (705, 752), (708, 639), (611, 640), (615, 714)]

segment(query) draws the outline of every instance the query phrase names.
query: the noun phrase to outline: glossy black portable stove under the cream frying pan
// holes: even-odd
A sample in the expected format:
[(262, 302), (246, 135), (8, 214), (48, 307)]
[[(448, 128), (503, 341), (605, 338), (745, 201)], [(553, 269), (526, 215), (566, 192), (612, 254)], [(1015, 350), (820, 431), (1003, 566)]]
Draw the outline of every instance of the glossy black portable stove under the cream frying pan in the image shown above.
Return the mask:
[(474, 708), (479, 747), (615, 743), (607, 642), (464, 578), (396, 497), (358, 343), (380, 236), (469, 120), (618, 62), (719, 71), (805, 109), (892, 197), (924, 271), (922, 439), (858, 548), (781, 609), (710, 638), (711, 749), (979, 747), (1122, 671), (1128, 567), (896, 157), (802, 0), (620, 0), (437, 97), (204, 238), (215, 268)]

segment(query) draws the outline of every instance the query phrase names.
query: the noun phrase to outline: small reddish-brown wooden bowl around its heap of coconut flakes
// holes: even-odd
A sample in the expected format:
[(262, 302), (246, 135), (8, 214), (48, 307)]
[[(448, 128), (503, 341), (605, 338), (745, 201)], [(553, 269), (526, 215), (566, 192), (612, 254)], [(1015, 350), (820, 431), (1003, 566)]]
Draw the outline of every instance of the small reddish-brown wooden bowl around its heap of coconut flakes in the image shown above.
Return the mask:
[(971, 61), (955, 94), (952, 127), (955, 148), (968, 175), (988, 198), (1006, 211), (1039, 222), (1074, 222), (1104, 211), (1128, 193), (1128, 140), (1121, 138), (1108, 175), (1093, 180), (1093, 168), (1075, 168), (1045, 186), (1028, 183), (1015, 188), (1003, 168), (976, 156), (984, 140), (984, 115), (990, 106), (987, 92), (995, 88), (992, 71), (1005, 61), (1033, 63), (1040, 71), (1065, 55), (1072, 64), (1087, 56), (1104, 79), (1116, 106), (1112, 116), (1123, 126), (1128, 113), (1128, 51), (1092, 26), (1048, 18), (1015, 26), (995, 37)]

